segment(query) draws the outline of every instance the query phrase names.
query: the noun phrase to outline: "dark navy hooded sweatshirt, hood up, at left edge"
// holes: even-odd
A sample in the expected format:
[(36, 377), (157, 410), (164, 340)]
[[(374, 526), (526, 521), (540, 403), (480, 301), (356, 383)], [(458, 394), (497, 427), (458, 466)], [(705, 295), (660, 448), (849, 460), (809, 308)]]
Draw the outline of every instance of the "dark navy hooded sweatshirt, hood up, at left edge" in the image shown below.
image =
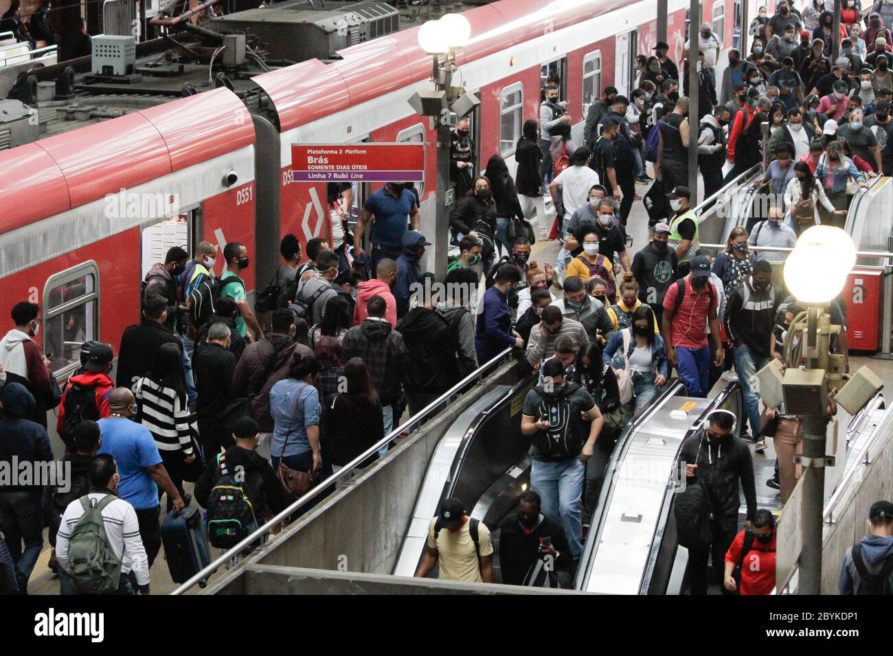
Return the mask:
[[(3, 418), (0, 419), (0, 463), (6, 471), (19, 471), (13, 463), (52, 462), (53, 450), (46, 429), (40, 424), (22, 419), (34, 415), (34, 397), (20, 383), (7, 383), (3, 388)], [(6, 481), (0, 477), (0, 492), (40, 492), (40, 486), (18, 485), (18, 478)], [(33, 482), (33, 481), (31, 481)]]

